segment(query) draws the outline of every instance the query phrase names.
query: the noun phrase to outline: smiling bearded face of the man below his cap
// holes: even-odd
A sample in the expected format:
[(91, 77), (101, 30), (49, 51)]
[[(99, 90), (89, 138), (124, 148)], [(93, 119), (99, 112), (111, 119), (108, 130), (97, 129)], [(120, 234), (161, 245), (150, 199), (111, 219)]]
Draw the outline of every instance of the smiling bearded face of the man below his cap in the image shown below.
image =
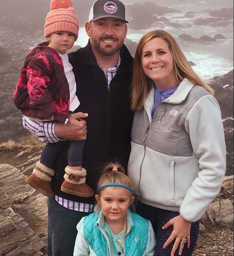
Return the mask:
[(117, 53), (124, 44), (127, 25), (121, 20), (104, 18), (86, 23), (86, 32), (94, 52), (104, 56)]

